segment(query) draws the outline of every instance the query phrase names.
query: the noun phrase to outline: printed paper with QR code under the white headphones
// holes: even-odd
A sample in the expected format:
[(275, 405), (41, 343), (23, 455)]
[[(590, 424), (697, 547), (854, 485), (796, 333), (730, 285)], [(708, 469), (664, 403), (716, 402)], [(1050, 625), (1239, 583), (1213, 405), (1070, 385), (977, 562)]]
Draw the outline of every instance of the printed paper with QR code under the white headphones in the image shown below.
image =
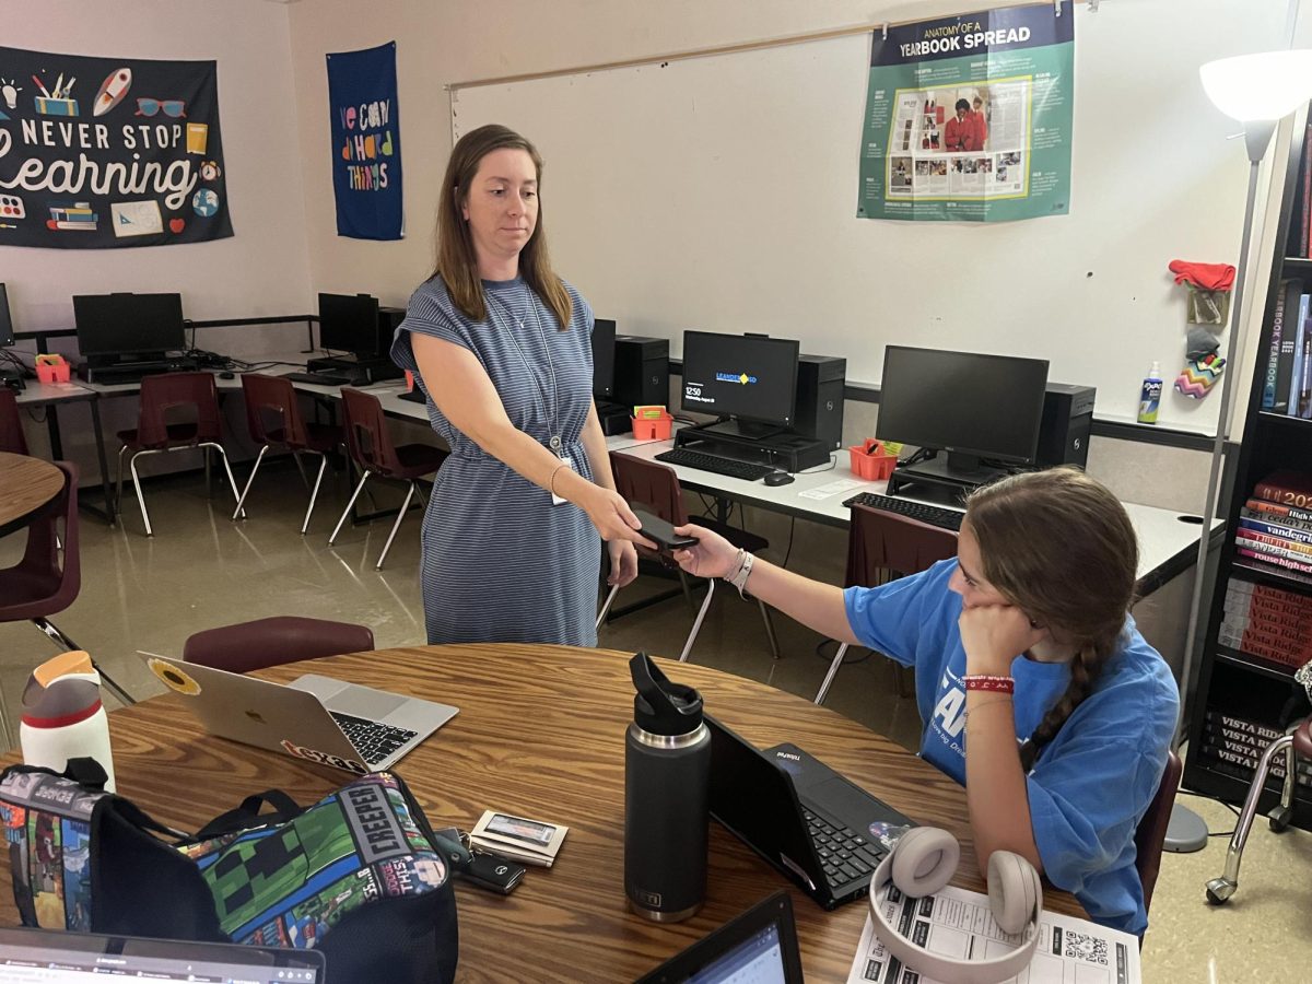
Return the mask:
[[(964, 958), (967, 953), (997, 955), (1015, 947), (993, 921), (988, 896), (964, 888), (945, 888), (925, 899), (908, 899), (888, 886), (880, 895), (893, 925), (922, 934), (925, 946), (942, 955)], [(890, 956), (866, 916), (866, 928), (848, 984), (895, 984), (903, 966)], [(943, 984), (917, 977), (918, 984)], [(1034, 959), (1015, 977), (1015, 984), (1140, 984), (1139, 939), (1130, 933), (1099, 926), (1073, 916), (1044, 912), (1039, 917), (1039, 945)]]

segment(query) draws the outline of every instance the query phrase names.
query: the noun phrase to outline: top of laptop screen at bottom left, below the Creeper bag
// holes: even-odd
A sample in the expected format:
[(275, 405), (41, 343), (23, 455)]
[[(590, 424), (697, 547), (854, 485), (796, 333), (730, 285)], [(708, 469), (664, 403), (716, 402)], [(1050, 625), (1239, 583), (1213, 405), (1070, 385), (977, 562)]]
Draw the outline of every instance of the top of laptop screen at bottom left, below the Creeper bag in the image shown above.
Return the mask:
[(0, 928), (0, 980), (72, 984), (104, 976), (249, 984), (324, 984), (318, 950)]

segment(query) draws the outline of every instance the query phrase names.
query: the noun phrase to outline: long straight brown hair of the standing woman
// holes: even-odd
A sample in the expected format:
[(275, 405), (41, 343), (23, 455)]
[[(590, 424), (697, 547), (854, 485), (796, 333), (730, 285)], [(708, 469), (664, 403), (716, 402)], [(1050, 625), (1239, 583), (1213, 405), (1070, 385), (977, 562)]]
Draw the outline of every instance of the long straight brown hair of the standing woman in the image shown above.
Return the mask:
[(479, 164), (487, 155), (500, 150), (525, 151), (533, 159), (538, 174), (538, 224), (520, 252), (520, 276), (555, 314), (560, 331), (565, 331), (569, 327), (573, 304), (565, 285), (551, 269), (547, 253), (547, 231), (541, 205), (542, 155), (514, 130), (496, 123), (480, 126), (464, 134), (451, 148), (437, 206), (437, 269), (433, 270), (433, 276), (442, 276), (451, 302), (466, 318), (474, 321), (487, 318), (487, 298), (483, 294), (483, 279), (479, 277), (478, 255), (474, 252), (474, 237), (470, 235), (462, 207), (468, 201)]

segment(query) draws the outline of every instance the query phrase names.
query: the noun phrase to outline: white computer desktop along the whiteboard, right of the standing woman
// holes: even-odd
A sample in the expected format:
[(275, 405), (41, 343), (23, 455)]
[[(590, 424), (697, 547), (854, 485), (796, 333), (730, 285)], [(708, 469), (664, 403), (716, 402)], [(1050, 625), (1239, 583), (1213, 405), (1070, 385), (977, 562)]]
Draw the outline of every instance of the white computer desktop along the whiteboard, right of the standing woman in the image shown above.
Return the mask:
[[(657, 454), (673, 446), (673, 441), (646, 441), (611, 450), (655, 461)], [(682, 464), (669, 464), (669, 467), (674, 468), (684, 488), (844, 529), (850, 525), (850, 512), (844, 505), (845, 500), (858, 492), (886, 492), (888, 487), (887, 482), (866, 482), (853, 475), (848, 467), (845, 450), (830, 454), (829, 466), (798, 472), (789, 485), (766, 485), (760, 480), (745, 482)], [(907, 492), (900, 492), (899, 496), (914, 497)], [(933, 505), (943, 502), (935, 501)], [(1122, 505), (1130, 513), (1130, 521), (1139, 535), (1139, 594), (1143, 597), (1194, 564), (1198, 556), (1202, 517), (1140, 502), (1122, 502)], [(1223, 521), (1216, 520), (1212, 525), (1212, 537), (1219, 539), (1223, 527)]]

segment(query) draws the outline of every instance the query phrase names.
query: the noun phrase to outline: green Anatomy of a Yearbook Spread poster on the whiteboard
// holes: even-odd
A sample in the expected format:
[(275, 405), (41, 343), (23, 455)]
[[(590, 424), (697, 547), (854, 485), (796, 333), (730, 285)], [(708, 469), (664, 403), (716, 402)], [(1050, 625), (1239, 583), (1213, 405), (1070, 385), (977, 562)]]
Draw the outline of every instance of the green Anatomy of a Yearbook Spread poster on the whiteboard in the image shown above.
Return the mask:
[(1075, 16), (1051, 3), (876, 29), (857, 215), (1009, 222), (1071, 209)]

